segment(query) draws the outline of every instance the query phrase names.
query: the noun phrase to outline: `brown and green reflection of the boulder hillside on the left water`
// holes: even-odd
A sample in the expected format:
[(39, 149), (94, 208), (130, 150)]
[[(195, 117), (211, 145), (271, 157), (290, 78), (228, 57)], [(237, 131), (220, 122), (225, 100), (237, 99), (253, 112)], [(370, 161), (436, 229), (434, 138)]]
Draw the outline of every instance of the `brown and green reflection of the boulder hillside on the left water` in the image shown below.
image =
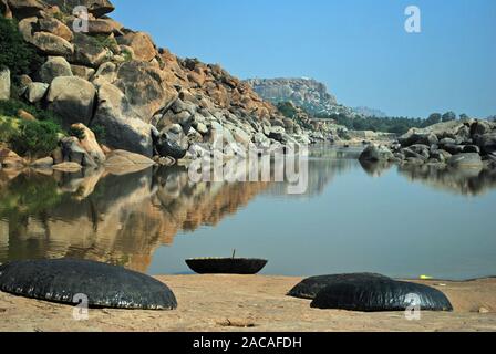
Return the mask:
[(192, 184), (179, 167), (125, 176), (1, 170), (0, 262), (72, 257), (146, 271), (154, 251), (177, 232), (218, 223), (267, 186)]

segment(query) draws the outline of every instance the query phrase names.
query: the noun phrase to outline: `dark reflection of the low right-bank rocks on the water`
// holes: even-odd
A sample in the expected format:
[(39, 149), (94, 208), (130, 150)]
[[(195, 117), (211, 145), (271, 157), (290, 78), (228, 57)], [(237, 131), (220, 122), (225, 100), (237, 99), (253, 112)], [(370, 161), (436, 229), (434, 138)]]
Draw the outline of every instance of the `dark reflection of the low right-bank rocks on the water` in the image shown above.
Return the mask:
[(400, 174), (413, 181), (422, 181), (436, 189), (455, 194), (477, 196), (496, 188), (496, 170), (469, 168), (438, 168), (436, 166), (403, 165)]

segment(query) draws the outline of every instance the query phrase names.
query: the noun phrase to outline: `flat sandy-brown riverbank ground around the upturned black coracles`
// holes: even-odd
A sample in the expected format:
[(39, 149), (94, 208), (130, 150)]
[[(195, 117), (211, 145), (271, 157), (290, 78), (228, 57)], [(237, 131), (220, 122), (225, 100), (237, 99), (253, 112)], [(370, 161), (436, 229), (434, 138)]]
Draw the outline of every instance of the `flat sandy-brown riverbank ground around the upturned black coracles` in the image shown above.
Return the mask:
[(285, 296), (300, 278), (157, 279), (175, 292), (176, 311), (90, 310), (89, 321), (78, 322), (71, 306), (0, 292), (0, 331), (496, 331), (496, 279), (422, 281), (441, 289), (455, 311), (423, 312), (421, 321), (406, 321), (400, 312), (310, 309), (309, 301)]

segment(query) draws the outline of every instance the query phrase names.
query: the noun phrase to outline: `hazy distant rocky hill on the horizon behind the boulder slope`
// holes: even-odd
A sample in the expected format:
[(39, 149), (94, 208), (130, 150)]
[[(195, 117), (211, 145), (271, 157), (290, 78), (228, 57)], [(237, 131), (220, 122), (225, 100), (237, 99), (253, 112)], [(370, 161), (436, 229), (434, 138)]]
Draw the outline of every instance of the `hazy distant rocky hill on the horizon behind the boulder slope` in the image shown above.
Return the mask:
[(338, 104), (323, 83), (312, 79), (250, 79), (246, 83), (262, 98), (275, 104), (292, 102), (313, 115), (355, 115), (353, 110)]

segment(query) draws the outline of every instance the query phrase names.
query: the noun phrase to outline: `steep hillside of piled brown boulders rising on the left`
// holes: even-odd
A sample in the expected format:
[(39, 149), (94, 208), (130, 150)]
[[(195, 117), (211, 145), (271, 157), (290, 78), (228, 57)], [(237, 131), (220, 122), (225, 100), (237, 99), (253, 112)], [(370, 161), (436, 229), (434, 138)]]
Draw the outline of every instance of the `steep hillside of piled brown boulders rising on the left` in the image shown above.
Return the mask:
[[(220, 66), (180, 59), (158, 48), (147, 33), (114, 21), (107, 15), (114, 10), (108, 0), (0, 0), (0, 4), (2, 15), (18, 21), (23, 40), (42, 59), (29, 75), (3, 70), (0, 100), (9, 98), (12, 80), (18, 83), (16, 95), (53, 111), (63, 128), (82, 124), (105, 132), (105, 153), (123, 149), (170, 162), (209, 155), (211, 147), (239, 153), (227, 143), (270, 149), (331, 134), (322, 126), (316, 134), (312, 126), (285, 118), (248, 83)], [(76, 4), (90, 11), (87, 32), (73, 31)], [(100, 149), (97, 159), (90, 158), (81, 139), (65, 137), (61, 145), (64, 158), (72, 156), (70, 162), (104, 159)]]

